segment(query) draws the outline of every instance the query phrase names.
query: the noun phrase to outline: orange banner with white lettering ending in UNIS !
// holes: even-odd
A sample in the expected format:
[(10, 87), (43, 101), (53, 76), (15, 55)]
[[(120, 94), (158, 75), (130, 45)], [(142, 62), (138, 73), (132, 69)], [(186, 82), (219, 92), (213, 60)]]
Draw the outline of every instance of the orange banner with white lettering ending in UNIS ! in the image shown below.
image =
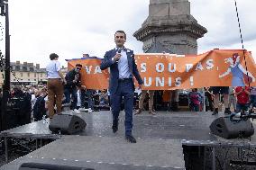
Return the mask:
[[(243, 86), (248, 82), (256, 86), (255, 61), (250, 52), (242, 49), (215, 49), (200, 55), (145, 53), (135, 55), (135, 59), (144, 81), (143, 89)], [(101, 58), (69, 60), (69, 69), (78, 63), (83, 65), (83, 85), (88, 89), (108, 88), (109, 70), (100, 69)]]

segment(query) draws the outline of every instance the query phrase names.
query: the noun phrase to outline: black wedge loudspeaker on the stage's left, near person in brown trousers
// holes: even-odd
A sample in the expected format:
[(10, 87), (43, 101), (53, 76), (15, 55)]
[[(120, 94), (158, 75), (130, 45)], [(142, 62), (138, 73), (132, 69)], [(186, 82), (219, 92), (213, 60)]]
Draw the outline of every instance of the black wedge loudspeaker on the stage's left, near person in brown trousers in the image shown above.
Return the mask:
[(86, 121), (76, 115), (56, 114), (50, 120), (49, 129), (53, 133), (73, 134), (85, 130)]

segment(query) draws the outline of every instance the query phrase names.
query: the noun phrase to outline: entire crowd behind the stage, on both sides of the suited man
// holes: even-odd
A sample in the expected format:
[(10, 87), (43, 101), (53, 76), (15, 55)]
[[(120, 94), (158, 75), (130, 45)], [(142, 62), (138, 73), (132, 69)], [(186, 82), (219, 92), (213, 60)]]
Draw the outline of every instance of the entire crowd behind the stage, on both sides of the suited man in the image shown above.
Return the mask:
[[(71, 70), (70, 73), (72, 73), (72, 71), (74, 71), (74, 69)], [(69, 81), (69, 74), (67, 74), (65, 79), (67, 82)], [(66, 110), (68, 108), (68, 110), (73, 110), (74, 112), (110, 110), (110, 94), (108, 93), (108, 90), (92, 90), (86, 89), (85, 87), (81, 88), (81, 86), (75, 85), (70, 87), (70, 84), (64, 85), (64, 94), (61, 97), (61, 111), (65, 110), (65, 108)], [(219, 91), (217, 91), (216, 88), (218, 88)], [(206, 87), (204, 88), (204, 91), (205, 93), (202, 89), (198, 91), (197, 88), (193, 88), (188, 92), (187, 100), (188, 109), (190, 111), (200, 112), (206, 107), (206, 112), (210, 111), (215, 115), (224, 104), (224, 113), (226, 114), (230, 114), (231, 112), (241, 112), (242, 110), (256, 112), (256, 87)], [(169, 92), (170, 95), (175, 95), (175, 91)], [(135, 92), (136, 95), (134, 95), (133, 98), (133, 110), (137, 110), (137, 112), (135, 112), (134, 115), (141, 114), (143, 110), (148, 110), (152, 115), (156, 114), (156, 108), (154, 108), (154, 101), (156, 100), (153, 100), (154, 93), (155, 91), (145, 90)], [(148, 96), (146, 97), (146, 95)], [(169, 101), (167, 100), (167, 109), (162, 110), (178, 111), (173, 107), (173, 96), (170, 95)], [(50, 117), (48, 104), (49, 96), (46, 85), (12, 86), (11, 98), (21, 97), (27, 98), (31, 103), (31, 106), (28, 107), (31, 108), (30, 113), (32, 121), (41, 121), (44, 116)], [(165, 93), (160, 97), (164, 98)], [(145, 98), (148, 99), (148, 101), (145, 101)], [(148, 106), (146, 104), (148, 104)], [(57, 112), (57, 107), (54, 108), (54, 112)]]

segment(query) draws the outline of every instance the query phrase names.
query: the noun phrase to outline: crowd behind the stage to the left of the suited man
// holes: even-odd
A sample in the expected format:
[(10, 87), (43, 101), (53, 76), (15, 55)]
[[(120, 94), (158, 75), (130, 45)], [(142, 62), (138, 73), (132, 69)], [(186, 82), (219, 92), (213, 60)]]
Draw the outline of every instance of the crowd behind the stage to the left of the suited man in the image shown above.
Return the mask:
[[(110, 109), (109, 96), (106, 90), (81, 90), (76, 88), (74, 92), (76, 93), (75, 96), (71, 94), (61, 96), (61, 112), (64, 110), (94, 112)], [(11, 99), (19, 101), (21, 98), (28, 101), (27, 105), (30, 109), (27, 112), (31, 114), (32, 121), (41, 121), (44, 116), (50, 117), (47, 85), (12, 85)], [(54, 114), (57, 113), (56, 105), (53, 107), (53, 112)]]

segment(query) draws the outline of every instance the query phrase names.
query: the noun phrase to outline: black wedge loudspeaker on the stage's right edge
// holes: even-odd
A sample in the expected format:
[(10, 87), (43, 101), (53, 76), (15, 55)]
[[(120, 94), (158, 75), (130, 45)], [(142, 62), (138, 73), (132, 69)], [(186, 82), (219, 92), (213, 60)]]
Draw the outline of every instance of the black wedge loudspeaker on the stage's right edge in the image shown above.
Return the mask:
[(213, 134), (224, 139), (246, 138), (254, 134), (254, 128), (250, 120), (233, 122), (229, 117), (215, 119), (210, 125)]

